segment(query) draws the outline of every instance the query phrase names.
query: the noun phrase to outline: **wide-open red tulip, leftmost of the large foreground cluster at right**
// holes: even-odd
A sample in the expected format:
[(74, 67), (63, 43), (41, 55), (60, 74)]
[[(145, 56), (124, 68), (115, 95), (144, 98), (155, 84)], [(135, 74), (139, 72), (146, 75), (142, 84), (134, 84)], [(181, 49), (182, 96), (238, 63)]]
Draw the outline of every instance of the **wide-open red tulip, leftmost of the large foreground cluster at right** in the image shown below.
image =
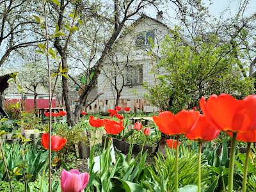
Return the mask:
[(170, 111), (164, 111), (159, 116), (154, 116), (153, 120), (159, 130), (167, 135), (187, 134), (193, 128), (199, 117), (198, 111), (182, 110), (176, 115)]

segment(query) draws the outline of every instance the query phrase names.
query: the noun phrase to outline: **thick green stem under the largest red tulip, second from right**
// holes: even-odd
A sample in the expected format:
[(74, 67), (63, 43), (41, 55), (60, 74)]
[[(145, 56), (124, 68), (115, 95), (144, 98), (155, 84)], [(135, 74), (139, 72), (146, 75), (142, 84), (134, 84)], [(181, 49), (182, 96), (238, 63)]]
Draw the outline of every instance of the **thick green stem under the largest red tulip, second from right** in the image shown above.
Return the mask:
[(233, 191), (234, 163), (235, 163), (235, 155), (236, 155), (236, 135), (237, 133), (233, 132), (229, 168), (228, 168), (228, 192)]

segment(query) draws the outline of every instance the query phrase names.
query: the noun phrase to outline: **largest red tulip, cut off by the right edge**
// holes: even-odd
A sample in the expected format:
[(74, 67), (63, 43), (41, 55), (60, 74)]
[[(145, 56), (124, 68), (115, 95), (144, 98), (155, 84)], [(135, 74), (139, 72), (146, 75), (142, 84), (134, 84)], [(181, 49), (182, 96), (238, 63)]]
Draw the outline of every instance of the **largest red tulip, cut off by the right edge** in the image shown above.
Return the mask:
[(200, 108), (209, 123), (216, 129), (231, 132), (250, 132), (256, 129), (256, 95), (243, 100), (222, 93), (200, 99)]

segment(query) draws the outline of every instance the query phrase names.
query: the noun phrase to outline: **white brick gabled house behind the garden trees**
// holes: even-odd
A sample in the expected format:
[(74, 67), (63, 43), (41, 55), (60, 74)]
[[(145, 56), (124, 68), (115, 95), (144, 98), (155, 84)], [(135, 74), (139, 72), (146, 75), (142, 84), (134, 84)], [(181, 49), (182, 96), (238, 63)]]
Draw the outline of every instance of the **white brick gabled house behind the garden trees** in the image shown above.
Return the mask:
[(97, 93), (103, 94), (86, 111), (98, 113), (115, 108), (117, 90), (121, 89), (119, 106), (128, 106), (131, 111), (156, 110), (143, 98), (147, 93), (143, 83), (156, 83), (151, 71), (157, 60), (153, 60), (148, 51), (151, 50), (161, 58), (161, 43), (165, 36), (170, 34), (161, 14), (163, 12), (159, 12), (156, 19), (141, 15), (118, 38), (115, 47), (106, 56), (97, 80)]

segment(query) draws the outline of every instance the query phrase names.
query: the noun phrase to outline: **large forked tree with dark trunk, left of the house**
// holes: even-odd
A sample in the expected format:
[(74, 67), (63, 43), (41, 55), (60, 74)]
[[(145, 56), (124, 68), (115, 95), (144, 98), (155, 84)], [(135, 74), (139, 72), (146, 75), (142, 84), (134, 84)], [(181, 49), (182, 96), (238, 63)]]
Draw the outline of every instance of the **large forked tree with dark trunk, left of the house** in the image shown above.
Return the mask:
[[(62, 77), (62, 84), (63, 84), (63, 97), (65, 100), (65, 105), (67, 109), (67, 118), (68, 118), (68, 124), (74, 125), (78, 122), (79, 116), (81, 114), (81, 110), (83, 106), (86, 105), (86, 99), (88, 97), (88, 94), (91, 92), (91, 90), (95, 87), (95, 84), (97, 83), (97, 77), (100, 74), (100, 71), (102, 70), (104, 58), (110, 51), (111, 47), (115, 43), (116, 39), (120, 35), (122, 29), (124, 29), (125, 24), (132, 18), (136, 17), (139, 13), (143, 12), (144, 8), (147, 8), (147, 6), (150, 6), (150, 4), (157, 4), (160, 1), (156, 0), (140, 0), (140, 1), (118, 1), (115, 0), (113, 4), (106, 4), (106, 6), (101, 6), (101, 2), (95, 1), (91, 4), (86, 4), (83, 1), (73, 4), (74, 6), (74, 15), (76, 13), (79, 13), (78, 8), (82, 8), (87, 10), (88, 13), (84, 15), (84, 17), (95, 17), (101, 21), (108, 22), (109, 25), (111, 24), (111, 28), (109, 29), (109, 34), (106, 35), (106, 42), (102, 47), (102, 51), (99, 53), (99, 58), (95, 61), (93, 67), (88, 67), (88, 84), (84, 88), (83, 93), (79, 97), (76, 103), (76, 108), (74, 110), (74, 115), (72, 113), (71, 109), (71, 100), (70, 95), (68, 93), (68, 79), (67, 77)], [(60, 1), (60, 8), (56, 8), (58, 12), (58, 27), (59, 29), (63, 29), (65, 27), (65, 11), (67, 10), (68, 6), (70, 5), (70, 1)], [(113, 9), (111, 9), (113, 8)], [(114, 18), (114, 19), (113, 19)], [(73, 20), (74, 21), (74, 20)], [(67, 49), (68, 49), (68, 42), (70, 40), (70, 37), (72, 35), (72, 30), (74, 26), (79, 26), (79, 23), (74, 23), (68, 27), (69, 34), (67, 38), (64, 40), (64, 43), (61, 44), (61, 38), (56, 37), (54, 40), (54, 47), (58, 50), (58, 53), (61, 56), (61, 63), (63, 68), (68, 68), (68, 58), (67, 58)], [(67, 28), (67, 26), (66, 26)]]

